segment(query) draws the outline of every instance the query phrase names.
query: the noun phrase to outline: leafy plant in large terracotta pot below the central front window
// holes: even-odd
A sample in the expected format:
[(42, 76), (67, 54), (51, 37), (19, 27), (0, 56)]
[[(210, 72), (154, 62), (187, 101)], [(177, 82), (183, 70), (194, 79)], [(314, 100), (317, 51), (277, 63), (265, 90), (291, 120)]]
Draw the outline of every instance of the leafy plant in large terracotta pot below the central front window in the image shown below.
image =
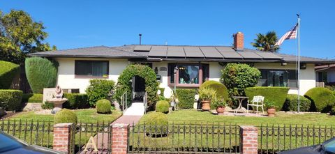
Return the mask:
[(202, 111), (209, 111), (211, 109), (210, 103), (215, 98), (216, 91), (212, 88), (202, 88), (199, 90), (199, 99), (202, 104)]

